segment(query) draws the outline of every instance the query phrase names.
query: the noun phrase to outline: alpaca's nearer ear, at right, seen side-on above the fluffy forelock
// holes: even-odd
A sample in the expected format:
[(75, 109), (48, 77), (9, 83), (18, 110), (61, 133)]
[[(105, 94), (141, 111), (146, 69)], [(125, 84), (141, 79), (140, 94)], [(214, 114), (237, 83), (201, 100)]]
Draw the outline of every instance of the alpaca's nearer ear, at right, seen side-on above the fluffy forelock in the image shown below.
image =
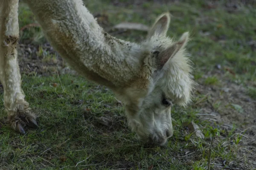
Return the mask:
[(178, 51), (180, 51), (183, 47), (185, 47), (188, 40), (189, 40), (189, 33), (185, 32), (177, 42), (175, 42), (173, 45), (166, 48), (164, 51), (161, 51), (157, 57), (159, 61), (157, 69), (162, 69), (163, 66), (166, 64), (166, 62), (172, 59), (172, 57), (174, 57)]

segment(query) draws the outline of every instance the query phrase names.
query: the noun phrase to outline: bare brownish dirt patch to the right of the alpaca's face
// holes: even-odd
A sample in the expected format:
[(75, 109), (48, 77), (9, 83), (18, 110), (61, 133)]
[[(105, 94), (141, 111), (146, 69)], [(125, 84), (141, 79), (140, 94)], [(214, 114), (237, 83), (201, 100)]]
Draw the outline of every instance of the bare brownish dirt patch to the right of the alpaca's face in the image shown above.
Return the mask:
[[(216, 75), (216, 72), (219, 71), (212, 71), (206, 77)], [(223, 74), (219, 74), (218, 79), (221, 80), (218, 85), (204, 85), (204, 82), (199, 80), (201, 85), (196, 96), (202, 97), (195, 102), (195, 107), (200, 109), (197, 115), (202, 121), (208, 120), (212, 127), (224, 130), (225, 133), (217, 139), (218, 143), (234, 130), (233, 136), (229, 139), (230, 144), (227, 144), (230, 150), (232, 146), (236, 148), (237, 159), (231, 162), (232, 167), (250, 169), (247, 163), (256, 166), (256, 100), (247, 95), (244, 86), (230, 82)], [(241, 140), (238, 141), (239, 137)], [(236, 142), (239, 143), (239, 147), (235, 145)], [(218, 160), (215, 163), (223, 164)], [(218, 165), (215, 167), (219, 168)]]

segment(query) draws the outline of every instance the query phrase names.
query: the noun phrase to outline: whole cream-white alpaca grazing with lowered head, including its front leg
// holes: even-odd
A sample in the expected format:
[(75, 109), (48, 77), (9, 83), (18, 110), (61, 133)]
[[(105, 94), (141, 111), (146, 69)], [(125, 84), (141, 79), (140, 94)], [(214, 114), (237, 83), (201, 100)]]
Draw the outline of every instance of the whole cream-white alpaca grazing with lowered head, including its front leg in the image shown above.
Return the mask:
[[(38, 125), (21, 88), (18, 1), (0, 1), (0, 81), (10, 125), (25, 133), (26, 126)], [(106, 33), (82, 0), (24, 1), (62, 58), (90, 81), (113, 90), (138, 137), (165, 144), (173, 134), (171, 106), (185, 106), (194, 85), (185, 57), (189, 34), (177, 41), (166, 37), (170, 14), (159, 16), (146, 40), (136, 44)]]

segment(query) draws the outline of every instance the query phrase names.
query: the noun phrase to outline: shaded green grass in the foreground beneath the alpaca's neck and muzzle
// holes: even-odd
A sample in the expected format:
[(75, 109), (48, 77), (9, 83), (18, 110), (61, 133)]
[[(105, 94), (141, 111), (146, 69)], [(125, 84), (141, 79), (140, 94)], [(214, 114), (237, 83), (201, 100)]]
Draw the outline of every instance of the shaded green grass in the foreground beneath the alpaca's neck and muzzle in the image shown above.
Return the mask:
[[(0, 130), (3, 167), (40, 169), (44, 165), (69, 169), (79, 166), (183, 169), (207, 164), (207, 145), (184, 131), (182, 122), (195, 120), (193, 109), (175, 108), (174, 137), (166, 147), (145, 148), (126, 125), (124, 110), (111, 91), (71, 75), (31, 77), (23, 75), (26, 99), (39, 116), (39, 127), (19, 135), (3, 125)], [(52, 84), (57, 83), (54, 87)], [(1, 102), (3, 106), (3, 103)], [(107, 105), (107, 107), (106, 107)], [(180, 113), (183, 113), (180, 115)], [(113, 127), (101, 125), (101, 116), (116, 121)], [(189, 116), (188, 116), (189, 115)], [(205, 123), (201, 122), (201, 125)], [(207, 136), (208, 130), (203, 133)], [(189, 136), (189, 137), (187, 137)], [(208, 135), (209, 136), (209, 135)], [(193, 141), (193, 143), (191, 142)], [(185, 164), (184, 150), (195, 152), (197, 163)], [(214, 157), (232, 160), (229, 148), (216, 146)], [(186, 152), (185, 151), (185, 152)], [(225, 153), (225, 154), (224, 154)], [(173, 157), (180, 156), (180, 159)], [(47, 160), (47, 161), (45, 161)], [(49, 163), (50, 162), (50, 163)], [(88, 166), (87, 166), (88, 165)], [(99, 166), (100, 165), (100, 166)], [(81, 168), (82, 168), (81, 167)], [(64, 168), (65, 169), (65, 168)]]

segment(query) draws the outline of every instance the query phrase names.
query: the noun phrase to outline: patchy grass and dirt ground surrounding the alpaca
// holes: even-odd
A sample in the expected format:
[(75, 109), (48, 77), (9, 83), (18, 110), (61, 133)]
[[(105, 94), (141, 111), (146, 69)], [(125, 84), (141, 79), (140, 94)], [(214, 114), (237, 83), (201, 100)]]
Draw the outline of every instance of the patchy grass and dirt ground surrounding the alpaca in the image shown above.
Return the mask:
[[(166, 146), (144, 146), (127, 127), (124, 109), (112, 92), (70, 71), (20, 3), (19, 64), (39, 127), (22, 136), (5, 124), (6, 113), (0, 116), (0, 169), (204, 170), (212, 128), (219, 136), (212, 142), (211, 169), (256, 169), (256, 3), (88, 2), (102, 27), (130, 41), (143, 40), (146, 32), (113, 26), (124, 21), (150, 26), (157, 15), (170, 11), (169, 36), (192, 34), (188, 51), (199, 84), (193, 102), (172, 108), (175, 131)], [(3, 111), (2, 100), (0, 108)], [(192, 121), (204, 139), (184, 125)]]

